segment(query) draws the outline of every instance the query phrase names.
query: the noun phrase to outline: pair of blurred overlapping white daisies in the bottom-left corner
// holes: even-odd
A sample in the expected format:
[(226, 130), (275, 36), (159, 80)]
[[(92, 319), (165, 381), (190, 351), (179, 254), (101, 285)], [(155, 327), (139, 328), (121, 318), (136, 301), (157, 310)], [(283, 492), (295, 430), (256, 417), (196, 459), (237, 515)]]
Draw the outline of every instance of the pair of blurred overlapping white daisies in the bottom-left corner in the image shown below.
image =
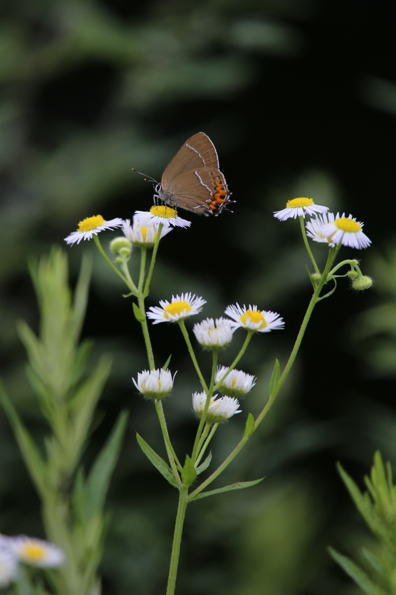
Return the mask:
[(18, 577), (18, 565), (56, 568), (65, 561), (59, 547), (34, 537), (8, 537), (0, 534), (0, 588), (8, 587)]

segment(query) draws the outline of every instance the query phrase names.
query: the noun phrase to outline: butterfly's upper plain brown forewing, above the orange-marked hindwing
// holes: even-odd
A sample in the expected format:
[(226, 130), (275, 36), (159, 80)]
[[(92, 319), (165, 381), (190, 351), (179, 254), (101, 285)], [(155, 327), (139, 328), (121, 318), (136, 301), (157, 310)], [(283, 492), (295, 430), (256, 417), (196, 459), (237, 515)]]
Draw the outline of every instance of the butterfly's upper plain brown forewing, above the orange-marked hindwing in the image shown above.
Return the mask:
[(200, 168), (218, 170), (216, 149), (204, 132), (197, 132), (186, 140), (165, 168), (161, 186), (164, 190), (169, 190), (170, 185), (177, 177)]

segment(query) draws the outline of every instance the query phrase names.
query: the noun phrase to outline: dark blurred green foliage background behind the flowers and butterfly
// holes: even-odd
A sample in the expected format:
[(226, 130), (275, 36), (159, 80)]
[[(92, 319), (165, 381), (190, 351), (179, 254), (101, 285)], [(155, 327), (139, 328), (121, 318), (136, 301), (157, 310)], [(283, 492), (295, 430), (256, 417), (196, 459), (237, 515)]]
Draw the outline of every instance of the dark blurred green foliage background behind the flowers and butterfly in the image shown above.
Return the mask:
[[(265, 427), (216, 486), (262, 475), (264, 482), (189, 509), (180, 594), (358, 592), (325, 547), (357, 558), (359, 544), (370, 544), (335, 462), (360, 483), (376, 449), (385, 460), (396, 455), (391, 9), (381, 0), (2, 2), (2, 374), (37, 440), (46, 428), (15, 331), (18, 318), (37, 328), (27, 258), (62, 244), (84, 217), (131, 218), (148, 209), (151, 185), (132, 167), (159, 179), (186, 138), (202, 130), (236, 200), (234, 213), (218, 218), (180, 211), (191, 229), (161, 243), (148, 303), (191, 291), (208, 301), (203, 317), (238, 301), (286, 320), (283, 333), (252, 341), (240, 367), (258, 384), (240, 419), (218, 432), (215, 462), (239, 440), (247, 412), (261, 410), (274, 358), (285, 364), (311, 295), (298, 226), (280, 223), (273, 211), (312, 196), (365, 222), (373, 240), (370, 250), (340, 254), (362, 258), (376, 286), (360, 295), (341, 280), (318, 306)], [(87, 466), (119, 410), (131, 416), (108, 500), (104, 595), (157, 595), (166, 584), (176, 493), (135, 441), (138, 431), (163, 453), (153, 408), (131, 383), (147, 367), (140, 328), (93, 243), (64, 248), (72, 280), (83, 252), (94, 253), (84, 336), (96, 341), (96, 354), (115, 359)], [(322, 263), (324, 252), (316, 246)], [(153, 327), (153, 341), (157, 361), (172, 351), (171, 369), (179, 370), (165, 409), (182, 456), (196, 427), (198, 384), (177, 328)], [(205, 355), (201, 362), (208, 365)], [(42, 536), (39, 502), (1, 412), (0, 453), (0, 531)]]

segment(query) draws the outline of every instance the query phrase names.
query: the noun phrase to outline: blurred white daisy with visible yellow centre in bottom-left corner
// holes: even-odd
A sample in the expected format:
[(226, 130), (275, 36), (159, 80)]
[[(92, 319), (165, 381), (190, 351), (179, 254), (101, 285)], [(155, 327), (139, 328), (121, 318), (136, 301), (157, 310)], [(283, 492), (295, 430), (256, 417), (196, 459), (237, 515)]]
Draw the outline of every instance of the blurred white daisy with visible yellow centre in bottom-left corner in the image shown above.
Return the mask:
[(24, 535), (10, 537), (8, 545), (10, 551), (14, 552), (18, 560), (32, 566), (55, 568), (65, 560), (65, 555), (59, 547), (35, 537)]

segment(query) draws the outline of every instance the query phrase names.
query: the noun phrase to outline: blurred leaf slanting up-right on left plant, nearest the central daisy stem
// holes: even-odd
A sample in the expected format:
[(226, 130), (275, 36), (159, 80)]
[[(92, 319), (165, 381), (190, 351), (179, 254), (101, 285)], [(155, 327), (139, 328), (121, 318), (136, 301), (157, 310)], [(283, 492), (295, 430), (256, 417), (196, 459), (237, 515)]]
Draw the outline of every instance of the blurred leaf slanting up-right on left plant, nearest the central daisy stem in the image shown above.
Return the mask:
[(102, 512), (104, 499), (110, 484), (110, 476), (118, 461), (121, 450), (121, 442), (125, 433), (127, 420), (128, 414), (125, 411), (121, 412), (88, 475), (88, 517), (94, 513)]

